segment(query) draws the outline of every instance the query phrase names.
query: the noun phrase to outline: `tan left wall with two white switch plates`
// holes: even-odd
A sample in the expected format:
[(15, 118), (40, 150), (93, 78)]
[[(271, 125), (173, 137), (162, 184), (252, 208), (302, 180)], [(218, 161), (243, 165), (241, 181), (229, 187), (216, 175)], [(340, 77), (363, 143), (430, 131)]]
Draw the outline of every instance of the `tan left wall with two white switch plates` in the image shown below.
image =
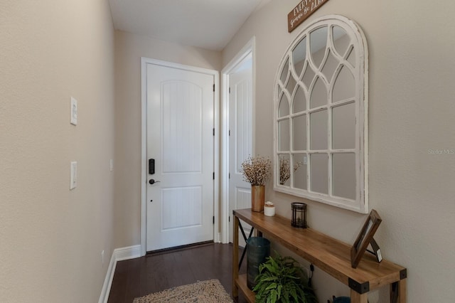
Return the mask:
[(109, 6), (3, 0), (0, 41), (0, 302), (97, 302), (114, 248)]

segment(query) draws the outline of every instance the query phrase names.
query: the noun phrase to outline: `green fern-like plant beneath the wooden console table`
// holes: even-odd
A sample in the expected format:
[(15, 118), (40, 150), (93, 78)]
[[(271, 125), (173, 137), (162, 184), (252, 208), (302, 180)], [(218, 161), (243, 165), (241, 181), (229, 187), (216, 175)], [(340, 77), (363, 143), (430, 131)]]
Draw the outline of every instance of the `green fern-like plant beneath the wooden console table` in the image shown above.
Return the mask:
[(267, 257), (259, 265), (257, 285), (253, 289), (256, 302), (295, 302), (316, 303), (318, 300), (313, 289), (308, 286), (308, 279), (303, 268), (292, 257)]

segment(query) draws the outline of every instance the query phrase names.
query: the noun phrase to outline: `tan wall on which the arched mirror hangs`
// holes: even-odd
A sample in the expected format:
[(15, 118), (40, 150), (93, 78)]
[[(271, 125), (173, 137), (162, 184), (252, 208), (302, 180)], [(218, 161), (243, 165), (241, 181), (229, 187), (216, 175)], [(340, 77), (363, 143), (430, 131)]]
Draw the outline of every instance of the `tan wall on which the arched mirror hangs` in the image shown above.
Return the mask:
[[(326, 14), (353, 18), (370, 50), (370, 208), (382, 216), (376, 240), (383, 257), (408, 267), (407, 302), (449, 302), (455, 296), (455, 4), (422, 1), (328, 1), (309, 21), (287, 33), (296, 0), (273, 0), (251, 16), (223, 50), (223, 66), (256, 36), (255, 133), (259, 154), (272, 156), (272, 90), (279, 61), (300, 29)], [(432, 149), (434, 152), (429, 151)], [(449, 154), (437, 154), (449, 149)], [(450, 151), (451, 149), (451, 151)], [(450, 154), (450, 152), (452, 154)], [(291, 201), (272, 191), (277, 213), (290, 218)], [(309, 225), (353, 243), (365, 216), (309, 203)], [(348, 288), (315, 272), (319, 300)], [(387, 289), (370, 302), (387, 302)]]

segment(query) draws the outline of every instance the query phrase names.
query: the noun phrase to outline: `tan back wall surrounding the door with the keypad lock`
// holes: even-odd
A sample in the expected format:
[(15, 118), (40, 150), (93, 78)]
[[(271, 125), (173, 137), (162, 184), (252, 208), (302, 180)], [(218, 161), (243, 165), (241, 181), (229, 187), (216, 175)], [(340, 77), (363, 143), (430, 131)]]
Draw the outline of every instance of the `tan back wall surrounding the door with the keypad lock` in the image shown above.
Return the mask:
[(220, 70), (221, 53), (115, 32), (116, 248), (141, 243), (141, 57)]

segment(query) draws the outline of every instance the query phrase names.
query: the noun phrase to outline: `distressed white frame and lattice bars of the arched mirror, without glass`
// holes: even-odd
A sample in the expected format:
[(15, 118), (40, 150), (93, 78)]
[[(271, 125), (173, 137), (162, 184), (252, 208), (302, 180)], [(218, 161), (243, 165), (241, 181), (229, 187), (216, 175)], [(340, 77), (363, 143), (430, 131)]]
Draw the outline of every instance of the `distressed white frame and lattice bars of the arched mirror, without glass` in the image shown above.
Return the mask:
[[(346, 102), (331, 102), (331, 95), (328, 94), (328, 101), (327, 105), (323, 107), (315, 107), (319, 110), (327, 110), (328, 114), (328, 147), (326, 150), (323, 151), (312, 151), (310, 144), (310, 123), (309, 123), (309, 115), (311, 112), (316, 112), (314, 109), (310, 108), (310, 90), (314, 86), (316, 82), (316, 78), (318, 75), (323, 76), (321, 70), (323, 68), (323, 64), (318, 68), (313, 63), (309, 63), (309, 48), (310, 48), (310, 33), (315, 31), (317, 28), (321, 28), (323, 26), (327, 26), (329, 29), (333, 28), (333, 26), (340, 26), (341, 28), (346, 31), (347, 35), (350, 37), (350, 46), (349, 48), (353, 48), (355, 50), (355, 57), (349, 58), (351, 62), (355, 60), (355, 66), (348, 62), (348, 56), (350, 50), (346, 51), (344, 55), (338, 55), (338, 68), (334, 73), (339, 73), (341, 70), (341, 65), (349, 65), (347, 66), (351, 73), (353, 73), (353, 78), (355, 82), (355, 96), (350, 98), (350, 103), (355, 103), (355, 149), (349, 149), (348, 152), (351, 154), (355, 153), (355, 198), (342, 198), (339, 196), (333, 195), (333, 179), (332, 179), (332, 155), (336, 154), (337, 152), (347, 152), (343, 149), (332, 149), (331, 143), (331, 133), (332, 133), (332, 117), (331, 117), (331, 110), (333, 105), (343, 105)], [(327, 49), (330, 49), (331, 52), (335, 50), (333, 46), (333, 35), (331, 34), (332, 31), (329, 30), (328, 38), (327, 38)], [(306, 150), (299, 151), (296, 153), (293, 151), (291, 147), (292, 144), (292, 134), (293, 129), (289, 127), (289, 137), (291, 138), (289, 142), (290, 147), (289, 151), (280, 151), (279, 150), (279, 121), (289, 119), (289, 125), (291, 125), (292, 117), (298, 116), (293, 114), (292, 112), (292, 97), (296, 93), (296, 87), (298, 85), (304, 86), (302, 81), (304, 72), (301, 75), (296, 75), (296, 70), (294, 69), (293, 63), (293, 56), (292, 52), (294, 48), (298, 45), (298, 43), (306, 37), (306, 60), (308, 62), (304, 63), (303, 70), (306, 69), (306, 65), (311, 65), (311, 68), (318, 69), (316, 70), (316, 75), (314, 75), (314, 80), (311, 81), (311, 85), (309, 88), (306, 86), (304, 87), (304, 91), (306, 94), (306, 110), (304, 111), (304, 115), (306, 115)], [(328, 51), (326, 50), (327, 57)], [(343, 57), (344, 56), (344, 57)], [(323, 63), (325, 64), (326, 59), (323, 59)], [(289, 65), (289, 72), (287, 74), (286, 80), (284, 83), (282, 82), (282, 71), (286, 68), (286, 64)], [(294, 88), (293, 92), (288, 92), (285, 88), (287, 86), (288, 80), (290, 77), (294, 77), (296, 80), (297, 85)], [(336, 78), (336, 77), (335, 77)], [(330, 85), (333, 85), (336, 80), (332, 81), (332, 84), (326, 82), (326, 87), (328, 92), (331, 92)], [(289, 115), (284, 117), (279, 117), (279, 102), (282, 100), (282, 95), (285, 94), (287, 96), (287, 100), (289, 102)], [(299, 112), (301, 115), (301, 112)], [(291, 172), (290, 181), (287, 182), (286, 185), (282, 185), (279, 182), (279, 156), (288, 156), (290, 159), (289, 167), (294, 167), (293, 161), (293, 154), (304, 154), (306, 155), (307, 165), (306, 165), (306, 190), (301, 188), (294, 187), (294, 173)], [(316, 191), (311, 191), (311, 161), (310, 156), (311, 154), (327, 154), (328, 155), (328, 193), (318, 193)], [(350, 211), (355, 211), (358, 213), (368, 213), (368, 46), (366, 43), (365, 35), (363, 31), (360, 29), (359, 26), (354, 21), (350, 19), (339, 16), (339, 15), (328, 15), (323, 16), (321, 18), (316, 19), (314, 22), (310, 23), (309, 26), (306, 26), (301, 33), (291, 42), (290, 46), (287, 48), (286, 52), (282, 57), (282, 61), (279, 64), (279, 68), (277, 69), (277, 74), (275, 75), (274, 80), (274, 190), (279, 191), (282, 193), (288, 193), (293, 196), (299, 196), (303, 198), (308, 198), (312, 201), (319, 201), (322, 203), (329, 204), (331, 206), (337, 206), (340, 208), (345, 208)]]

